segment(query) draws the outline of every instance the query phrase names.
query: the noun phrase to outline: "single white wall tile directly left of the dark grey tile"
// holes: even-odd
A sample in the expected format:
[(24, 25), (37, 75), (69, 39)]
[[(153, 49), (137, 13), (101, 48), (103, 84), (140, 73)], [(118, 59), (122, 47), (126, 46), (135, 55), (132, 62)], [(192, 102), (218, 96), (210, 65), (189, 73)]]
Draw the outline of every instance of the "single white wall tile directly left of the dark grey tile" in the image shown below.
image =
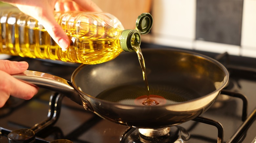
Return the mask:
[(167, 39), (195, 39), (196, 0), (153, 0), (152, 33)]

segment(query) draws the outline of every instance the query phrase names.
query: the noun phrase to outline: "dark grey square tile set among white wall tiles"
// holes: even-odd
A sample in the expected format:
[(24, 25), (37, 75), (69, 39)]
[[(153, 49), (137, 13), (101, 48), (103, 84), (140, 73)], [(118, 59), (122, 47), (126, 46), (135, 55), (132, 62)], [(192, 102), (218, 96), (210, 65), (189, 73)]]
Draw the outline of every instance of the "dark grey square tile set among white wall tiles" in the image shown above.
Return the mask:
[(196, 39), (241, 44), (243, 0), (197, 0)]

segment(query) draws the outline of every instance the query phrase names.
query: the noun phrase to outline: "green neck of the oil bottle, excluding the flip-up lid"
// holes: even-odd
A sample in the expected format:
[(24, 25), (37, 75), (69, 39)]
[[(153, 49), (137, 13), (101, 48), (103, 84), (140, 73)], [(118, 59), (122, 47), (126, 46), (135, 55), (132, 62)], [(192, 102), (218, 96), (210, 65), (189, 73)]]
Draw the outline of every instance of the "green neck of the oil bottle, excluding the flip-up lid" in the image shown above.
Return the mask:
[(135, 29), (125, 29), (120, 35), (120, 46), (126, 52), (134, 52), (133, 47), (139, 47), (140, 34)]

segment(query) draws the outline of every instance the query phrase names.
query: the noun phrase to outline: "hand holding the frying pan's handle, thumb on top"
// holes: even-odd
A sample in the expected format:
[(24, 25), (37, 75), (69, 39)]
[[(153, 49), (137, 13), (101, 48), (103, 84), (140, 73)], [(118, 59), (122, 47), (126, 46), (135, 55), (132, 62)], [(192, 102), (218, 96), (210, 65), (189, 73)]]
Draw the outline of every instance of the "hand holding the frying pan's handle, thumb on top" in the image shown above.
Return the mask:
[(0, 60), (0, 108), (4, 106), (10, 95), (28, 100), (38, 92), (38, 87), (11, 76), (26, 71), (28, 67), (27, 62)]

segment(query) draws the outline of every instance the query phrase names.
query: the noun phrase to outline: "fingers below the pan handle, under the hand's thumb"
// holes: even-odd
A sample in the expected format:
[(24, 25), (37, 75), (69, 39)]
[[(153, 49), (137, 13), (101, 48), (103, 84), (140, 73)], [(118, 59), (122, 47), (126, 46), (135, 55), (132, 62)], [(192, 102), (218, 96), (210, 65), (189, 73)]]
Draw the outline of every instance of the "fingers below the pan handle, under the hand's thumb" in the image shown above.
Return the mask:
[(10, 74), (0, 71), (0, 108), (4, 106), (10, 95), (28, 100), (37, 92), (37, 87), (26, 84)]

